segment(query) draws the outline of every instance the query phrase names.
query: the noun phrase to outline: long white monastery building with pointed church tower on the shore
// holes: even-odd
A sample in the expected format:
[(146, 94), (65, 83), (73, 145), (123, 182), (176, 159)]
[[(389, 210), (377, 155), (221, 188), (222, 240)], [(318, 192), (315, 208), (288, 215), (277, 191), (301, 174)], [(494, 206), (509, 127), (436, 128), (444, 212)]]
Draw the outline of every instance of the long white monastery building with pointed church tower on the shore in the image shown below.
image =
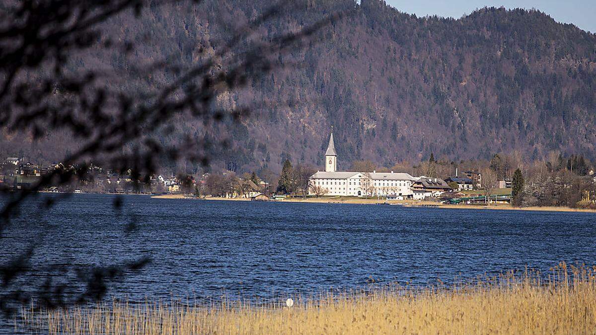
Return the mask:
[(403, 200), (414, 195), (412, 184), (417, 181), (408, 173), (392, 172), (338, 172), (337, 153), (333, 133), (325, 151), (325, 171), (311, 176), (309, 194), (325, 196), (383, 196)]

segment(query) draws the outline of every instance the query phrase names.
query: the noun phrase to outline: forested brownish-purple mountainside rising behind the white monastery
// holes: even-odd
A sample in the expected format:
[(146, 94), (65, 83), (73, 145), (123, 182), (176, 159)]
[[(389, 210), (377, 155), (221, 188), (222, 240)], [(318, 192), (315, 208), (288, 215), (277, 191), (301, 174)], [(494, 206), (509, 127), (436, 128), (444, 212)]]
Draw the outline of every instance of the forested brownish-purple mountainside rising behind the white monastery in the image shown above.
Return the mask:
[[(520, 151), (531, 159), (560, 150), (596, 158), (596, 35), (539, 11), (483, 8), (454, 20), (419, 18), (378, 0), (299, 3), (263, 23), (257, 38), (337, 11), (350, 15), (275, 55), (284, 67), (221, 97), (222, 106), (256, 107), (232, 126), (231, 147), (215, 157), (215, 168), (235, 162), (239, 170), (279, 170), (288, 156), (322, 166), (331, 126), (339, 169), (355, 159), (392, 166), (430, 153), (461, 160)], [(129, 91), (164, 85), (167, 72), (138, 78), (132, 65), (192, 64), (199, 50), (212, 52), (270, 5), (209, 0), (123, 15), (107, 29), (133, 41), (134, 54), (89, 52), (74, 58), (72, 70), (112, 69), (122, 78), (113, 82)], [(175, 126), (178, 135), (209, 134), (182, 120)], [(1, 149), (55, 160), (72, 145), (57, 134), (38, 144), (11, 135)]]

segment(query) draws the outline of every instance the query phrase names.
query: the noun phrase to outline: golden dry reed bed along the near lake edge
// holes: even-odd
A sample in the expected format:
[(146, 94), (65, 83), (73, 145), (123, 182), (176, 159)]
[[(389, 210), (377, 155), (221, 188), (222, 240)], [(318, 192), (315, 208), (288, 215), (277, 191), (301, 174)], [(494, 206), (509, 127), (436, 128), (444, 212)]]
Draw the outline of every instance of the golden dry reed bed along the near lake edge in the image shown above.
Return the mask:
[(254, 306), (112, 302), (23, 309), (21, 327), (60, 334), (594, 334), (596, 266), (507, 272), (467, 283), (392, 286)]

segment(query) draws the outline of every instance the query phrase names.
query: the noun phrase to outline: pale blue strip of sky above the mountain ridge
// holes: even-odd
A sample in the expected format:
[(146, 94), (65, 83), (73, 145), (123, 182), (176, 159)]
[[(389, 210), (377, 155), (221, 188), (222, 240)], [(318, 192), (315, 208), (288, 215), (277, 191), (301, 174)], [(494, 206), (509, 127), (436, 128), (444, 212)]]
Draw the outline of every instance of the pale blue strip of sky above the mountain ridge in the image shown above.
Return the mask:
[(596, 33), (596, 0), (386, 0), (399, 11), (418, 16), (439, 15), (460, 18), (476, 8), (536, 8), (551, 15), (555, 21), (573, 23), (583, 30)]

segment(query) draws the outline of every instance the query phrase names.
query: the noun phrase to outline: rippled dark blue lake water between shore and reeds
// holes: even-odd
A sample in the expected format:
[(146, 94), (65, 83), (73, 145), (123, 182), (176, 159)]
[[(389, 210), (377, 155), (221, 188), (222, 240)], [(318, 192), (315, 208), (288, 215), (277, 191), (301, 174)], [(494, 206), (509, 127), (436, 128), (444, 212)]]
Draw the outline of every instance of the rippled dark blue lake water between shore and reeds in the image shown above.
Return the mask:
[[(48, 197), (41, 196), (43, 197)], [(55, 197), (55, 196), (49, 196)], [(108, 297), (250, 299), (377, 283), (436, 284), (485, 273), (596, 263), (596, 215), (359, 204), (201, 201), (77, 194), (15, 221), (2, 263), (36, 241), (34, 277), (64, 265), (105, 266), (149, 256)], [(132, 218), (132, 219), (131, 219)], [(135, 229), (128, 231), (131, 220)], [(72, 275), (72, 274), (70, 274)], [(109, 299), (109, 298), (108, 298)]]

